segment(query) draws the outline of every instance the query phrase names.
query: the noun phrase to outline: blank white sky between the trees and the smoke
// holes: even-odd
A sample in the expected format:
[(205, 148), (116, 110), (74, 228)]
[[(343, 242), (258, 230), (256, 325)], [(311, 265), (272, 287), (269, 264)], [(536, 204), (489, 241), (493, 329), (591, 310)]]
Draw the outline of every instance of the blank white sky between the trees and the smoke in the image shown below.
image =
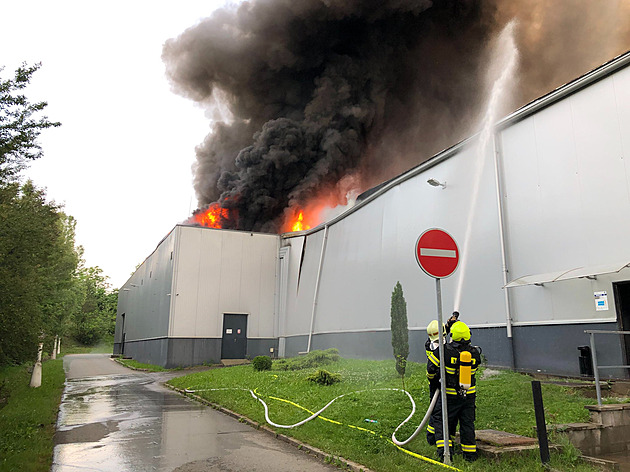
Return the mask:
[(223, 0), (29, 1), (2, 8), (2, 78), (41, 62), (26, 94), (62, 126), (27, 175), (77, 220), (88, 266), (120, 287), (196, 208), (191, 165), (204, 112), (170, 91), (162, 45)]

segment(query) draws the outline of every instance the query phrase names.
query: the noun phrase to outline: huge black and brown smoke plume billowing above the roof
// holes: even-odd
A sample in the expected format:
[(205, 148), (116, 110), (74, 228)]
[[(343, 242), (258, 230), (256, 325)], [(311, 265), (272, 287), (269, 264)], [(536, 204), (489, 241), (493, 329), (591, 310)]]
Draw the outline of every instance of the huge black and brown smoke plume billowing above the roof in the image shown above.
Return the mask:
[[(348, 175), (363, 190), (421, 162), (475, 131), (488, 44), (507, 21), (524, 12), (531, 66), (552, 28), (581, 30), (557, 4), (596, 14), (587, 2), (254, 0), (215, 11), (163, 51), (174, 89), (207, 106), (213, 123), (197, 148), (199, 204), (228, 208), (224, 227), (276, 232), (287, 212), (339, 192)], [(521, 71), (531, 80), (512, 105), (574, 78), (547, 76), (545, 61), (562, 56), (553, 49)], [(585, 56), (578, 69), (593, 65)]]

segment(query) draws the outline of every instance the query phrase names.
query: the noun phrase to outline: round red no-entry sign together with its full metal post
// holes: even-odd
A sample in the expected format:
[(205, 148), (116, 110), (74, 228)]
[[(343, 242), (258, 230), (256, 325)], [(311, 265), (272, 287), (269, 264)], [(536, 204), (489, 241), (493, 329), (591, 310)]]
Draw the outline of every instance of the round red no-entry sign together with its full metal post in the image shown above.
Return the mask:
[(416, 261), (420, 268), (435, 278), (438, 311), (438, 352), (440, 356), (440, 397), (442, 400), (442, 438), (444, 439), (444, 463), (451, 464), (450, 442), (448, 430), (448, 405), (446, 399), (446, 369), (444, 368), (444, 330), (442, 329), (442, 287), (440, 279), (450, 276), (459, 264), (457, 243), (446, 231), (429, 229), (422, 233), (416, 241)]

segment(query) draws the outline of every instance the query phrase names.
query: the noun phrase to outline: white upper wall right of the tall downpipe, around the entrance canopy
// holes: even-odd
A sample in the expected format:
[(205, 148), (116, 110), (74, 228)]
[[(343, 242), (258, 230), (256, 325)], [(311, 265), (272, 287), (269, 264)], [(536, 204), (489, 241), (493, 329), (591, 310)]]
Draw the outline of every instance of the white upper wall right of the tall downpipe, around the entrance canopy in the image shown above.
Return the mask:
[[(630, 72), (501, 133), (510, 278), (630, 260)], [(614, 319), (593, 292), (610, 276), (511, 290), (517, 322)]]

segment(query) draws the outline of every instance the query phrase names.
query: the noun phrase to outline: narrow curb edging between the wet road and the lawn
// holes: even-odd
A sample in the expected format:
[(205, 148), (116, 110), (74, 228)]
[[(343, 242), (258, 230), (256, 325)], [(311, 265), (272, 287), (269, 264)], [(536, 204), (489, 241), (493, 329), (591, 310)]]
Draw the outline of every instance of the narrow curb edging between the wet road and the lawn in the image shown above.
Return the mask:
[(326, 452), (322, 451), (321, 449), (318, 449), (314, 446), (311, 446), (309, 444), (303, 443), (301, 441), (298, 441), (295, 438), (289, 437), (289, 436), (285, 436), (284, 434), (280, 434), (276, 431), (274, 431), (273, 429), (271, 429), (269, 426), (265, 425), (265, 424), (260, 424), (257, 423), (256, 421), (253, 421), (251, 419), (249, 419), (246, 416), (243, 416), (239, 413), (236, 413), (235, 411), (232, 410), (228, 410), (227, 408), (222, 407), (221, 405), (218, 405), (216, 403), (212, 403), (208, 400), (206, 400), (205, 398), (200, 397), (199, 395), (195, 395), (194, 393), (190, 393), (190, 392), (186, 392), (180, 388), (177, 387), (173, 387), (172, 385), (169, 385), (167, 383), (163, 384), (164, 386), (170, 388), (171, 390), (176, 391), (177, 393), (179, 393), (180, 395), (183, 395), (185, 397), (188, 398), (192, 398), (193, 400), (198, 401), (199, 403), (203, 403), (204, 405), (207, 405), (215, 410), (220, 411), (221, 413), (224, 413), (228, 416), (231, 416), (232, 418), (237, 419), (239, 422), (241, 423), (245, 423), (249, 426), (251, 426), (254, 429), (257, 429), (259, 431), (264, 431), (265, 433), (273, 436), (276, 439), (279, 439), (287, 444), (290, 444), (291, 446), (295, 447), (296, 449), (299, 449), (300, 451), (317, 457), (318, 459), (320, 459), (322, 462), (326, 462), (329, 463), (331, 465), (336, 465), (337, 467), (339, 467), (340, 469), (344, 469), (344, 470), (350, 470), (352, 472), (373, 472), (371, 469), (368, 469), (367, 467), (361, 465), (361, 464), (357, 464), (356, 462), (350, 461), (348, 459), (344, 459), (343, 457), (340, 456), (334, 456), (331, 454), (327, 454)]

